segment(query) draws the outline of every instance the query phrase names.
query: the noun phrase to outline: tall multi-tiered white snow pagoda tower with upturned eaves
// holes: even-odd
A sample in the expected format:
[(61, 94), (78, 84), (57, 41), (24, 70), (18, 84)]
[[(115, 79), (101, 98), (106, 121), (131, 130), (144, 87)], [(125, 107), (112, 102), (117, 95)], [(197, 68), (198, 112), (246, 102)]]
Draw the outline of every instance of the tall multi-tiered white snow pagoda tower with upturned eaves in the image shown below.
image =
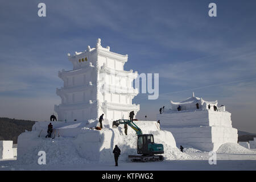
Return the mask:
[(138, 94), (133, 88), (138, 73), (123, 71), (128, 55), (111, 52), (98, 39), (96, 48), (68, 53), (68, 59), (73, 70), (59, 72), (64, 86), (56, 90), (61, 97), (61, 104), (55, 105), (59, 121), (88, 121), (103, 113), (111, 120), (128, 119), (130, 111), (137, 114), (139, 105), (132, 100)]

